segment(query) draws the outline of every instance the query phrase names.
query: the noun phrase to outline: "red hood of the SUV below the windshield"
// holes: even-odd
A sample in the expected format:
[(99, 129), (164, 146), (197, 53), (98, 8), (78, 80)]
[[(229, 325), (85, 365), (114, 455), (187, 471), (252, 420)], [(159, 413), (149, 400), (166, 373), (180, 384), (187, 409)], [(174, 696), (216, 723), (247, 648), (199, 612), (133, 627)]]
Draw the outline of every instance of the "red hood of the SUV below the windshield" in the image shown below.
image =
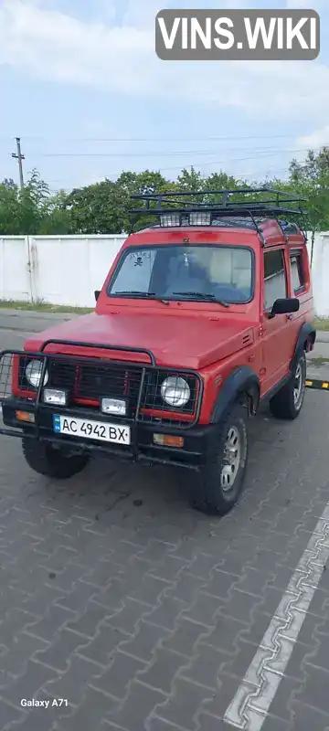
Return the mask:
[[(27, 340), (24, 349), (37, 351), (49, 339), (117, 345), (127, 349), (146, 348), (154, 353), (157, 365), (200, 370), (249, 345), (253, 332), (250, 323), (233, 321), (225, 314), (177, 317), (154, 313), (91, 313), (35, 334)], [(86, 349), (78, 350), (74, 345), (49, 345), (47, 352), (88, 355)], [(104, 357), (104, 351), (97, 355)], [(122, 354), (109, 351), (108, 357), (122, 359)], [(149, 362), (148, 358), (139, 355), (134, 356), (136, 359)]]

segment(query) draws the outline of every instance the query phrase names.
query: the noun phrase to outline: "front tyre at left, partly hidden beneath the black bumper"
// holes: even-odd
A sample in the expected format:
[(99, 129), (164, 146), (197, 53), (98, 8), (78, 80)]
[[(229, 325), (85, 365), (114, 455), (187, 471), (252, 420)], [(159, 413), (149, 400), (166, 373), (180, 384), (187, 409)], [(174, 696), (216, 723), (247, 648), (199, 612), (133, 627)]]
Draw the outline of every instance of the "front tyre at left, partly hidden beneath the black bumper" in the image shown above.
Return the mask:
[(89, 461), (88, 455), (67, 454), (30, 437), (23, 437), (22, 448), (31, 470), (55, 480), (68, 480), (82, 471)]

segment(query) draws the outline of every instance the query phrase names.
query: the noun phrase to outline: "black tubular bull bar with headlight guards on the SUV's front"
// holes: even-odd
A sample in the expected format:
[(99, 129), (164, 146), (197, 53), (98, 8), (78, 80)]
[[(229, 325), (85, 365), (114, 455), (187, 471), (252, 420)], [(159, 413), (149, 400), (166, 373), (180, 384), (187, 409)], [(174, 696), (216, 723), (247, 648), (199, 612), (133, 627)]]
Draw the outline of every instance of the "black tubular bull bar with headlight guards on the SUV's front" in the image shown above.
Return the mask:
[[(144, 360), (138, 360), (138, 358), (122, 358), (122, 360), (114, 360), (111, 359), (111, 357), (101, 358), (95, 356), (74, 355), (72, 352), (70, 354), (45, 352), (49, 344), (62, 347), (68, 346), (70, 348), (82, 348), (86, 350), (92, 348), (94, 351), (106, 351), (108, 353), (116, 352), (127, 355), (133, 354), (135, 356), (142, 355), (147, 356), (149, 363), (145, 363)], [(14, 356), (24, 357), (27, 360), (28, 358), (34, 358), (40, 360), (43, 364), (40, 383), (39, 386), (34, 389), (36, 395), (33, 399), (27, 399), (26, 397), (19, 396), (16, 397), (12, 392), (12, 364)], [(7, 393), (5, 393), (5, 397), (2, 397), (2, 391), (4, 388), (2, 380), (4, 376), (5, 358), (9, 358), (11, 361), (11, 367), (10, 369), (8, 368), (7, 374), (7, 384), (10, 384), (10, 389), (7, 386)], [(77, 440), (72, 436), (65, 436), (63, 438), (61, 435), (57, 435), (51, 431), (48, 427), (45, 428), (45, 424), (48, 424), (49, 422), (49, 415), (53, 413), (54, 410), (58, 412), (58, 407), (45, 404), (42, 401), (42, 392), (45, 387), (44, 378), (48, 370), (50, 360), (66, 364), (72, 364), (72, 362), (77, 365), (88, 364), (95, 366), (95, 368), (97, 368), (97, 366), (109, 366), (109, 368), (118, 366), (122, 367), (122, 369), (132, 367), (139, 369), (141, 374), (140, 385), (133, 416), (123, 418), (101, 413), (101, 410), (99, 409), (97, 411), (97, 408), (96, 410), (93, 408), (92, 411), (90, 408), (82, 408), (81, 406), (76, 408), (74, 403), (70, 404), (66, 408), (60, 408), (60, 413), (62, 413), (63, 416), (68, 416), (69, 418), (79, 417), (85, 418), (86, 420), (88, 418), (94, 419), (96, 414), (99, 413), (101, 420), (104, 422), (115, 422), (118, 424), (118, 427), (124, 426), (124, 424), (129, 424), (132, 430), (132, 441), (129, 447), (116, 447), (108, 442), (102, 445), (100, 442), (97, 443), (96, 440)], [(158, 376), (190, 376), (196, 379), (193, 417), (191, 416), (191, 418), (185, 422), (184, 420), (180, 421), (176, 416), (177, 409), (165, 406), (164, 413), (172, 412), (175, 414), (175, 418), (164, 418), (163, 420), (143, 418), (143, 394), (145, 393), (145, 388), (147, 390), (146, 379), (151, 372), (156, 375), (156, 378)], [(109, 456), (118, 456), (123, 461), (148, 461), (151, 463), (171, 464), (173, 466), (186, 467), (190, 470), (199, 471), (200, 466), (204, 464), (208, 437), (210, 436), (210, 433), (213, 432), (212, 425), (208, 427), (197, 426), (201, 410), (203, 387), (203, 379), (196, 371), (188, 368), (175, 369), (157, 365), (152, 351), (144, 348), (91, 344), (69, 340), (48, 340), (42, 344), (38, 351), (29, 352), (24, 350), (5, 350), (0, 353), (0, 405), (2, 405), (3, 408), (3, 418), (6, 425), (0, 425), (0, 434), (19, 438), (30, 437), (41, 441), (56, 442), (59, 445), (70, 446), (72, 449), (97, 451), (98, 453), (103, 453), (105, 455), (108, 454)], [(36, 415), (37, 418), (35, 423), (28, 425), (15, 423), (16, 410), (23, 408), (24, 410), (30, 411)], [(164, 434), (169, 433), (173, 436), (184, 436), (184, 449), (182, 447), (162, 447), (152, 443), (154, 431)]]

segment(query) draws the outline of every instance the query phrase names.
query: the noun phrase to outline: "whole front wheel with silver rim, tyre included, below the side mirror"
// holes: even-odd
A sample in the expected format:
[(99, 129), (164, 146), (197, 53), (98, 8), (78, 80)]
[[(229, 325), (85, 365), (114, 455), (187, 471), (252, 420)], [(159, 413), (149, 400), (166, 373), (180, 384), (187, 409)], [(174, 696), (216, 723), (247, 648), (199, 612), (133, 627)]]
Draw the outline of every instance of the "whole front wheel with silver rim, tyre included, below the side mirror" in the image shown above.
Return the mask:
[(202, 513), (225, 515), (238, 502), (248, 461), (248, 409), (236, 403), (218, 424), (205, 471), (196, 482), (192, 506)]

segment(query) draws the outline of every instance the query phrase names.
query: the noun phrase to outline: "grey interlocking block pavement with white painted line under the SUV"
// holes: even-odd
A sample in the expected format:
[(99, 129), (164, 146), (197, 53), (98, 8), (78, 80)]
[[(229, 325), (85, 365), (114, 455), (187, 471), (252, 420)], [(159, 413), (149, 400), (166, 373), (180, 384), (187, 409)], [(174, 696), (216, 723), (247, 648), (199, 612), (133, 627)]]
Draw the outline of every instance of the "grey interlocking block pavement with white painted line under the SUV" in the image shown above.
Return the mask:
[[(48, 322), (0, 325), (3, 349)], [(181, 471), (56, 484), (0, 438), (1, 731), (329, 731), (328, 431), (325, 392), (263, 412), (222, 520)]]

